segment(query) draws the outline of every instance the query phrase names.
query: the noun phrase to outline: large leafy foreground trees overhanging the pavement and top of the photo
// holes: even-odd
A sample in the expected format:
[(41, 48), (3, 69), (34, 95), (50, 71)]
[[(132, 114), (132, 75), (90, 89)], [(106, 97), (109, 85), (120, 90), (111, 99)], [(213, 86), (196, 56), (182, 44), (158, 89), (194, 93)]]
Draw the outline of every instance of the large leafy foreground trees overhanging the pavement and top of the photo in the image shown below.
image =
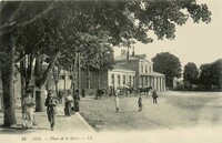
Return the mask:
[[(4, 126), (16, 124), (16, 67), (24, 90), (30, 85), (39, 89), (36, 111), (42, 111), (43, 89), (54, 67), (58, 71), (60, 69), (69, 70), (74, 86), (78, 67), (88, 73), (112, 67), (112, 57), (107, 54), (112, 53), (112, 47), (129, 47), (135, 40), (152, 42), (149, 31), (154, 31), (161, 40), (174, 39), (175, 24), (184, 24), (189, 17), (194, 22), (208, 23), (210, 16), (208, 7), (195, 0), (1, 1)], [(47, 63), (44, 70), (43, 63)]]

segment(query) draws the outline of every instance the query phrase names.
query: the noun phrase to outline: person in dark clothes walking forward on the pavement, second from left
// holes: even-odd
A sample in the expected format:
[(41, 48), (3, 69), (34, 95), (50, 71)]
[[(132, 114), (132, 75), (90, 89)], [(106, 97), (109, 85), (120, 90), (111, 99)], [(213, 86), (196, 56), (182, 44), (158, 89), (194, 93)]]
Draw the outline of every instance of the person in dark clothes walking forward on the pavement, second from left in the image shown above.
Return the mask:
[(47, 115), (48, 115), (48, 120), (50, 122), (50, 127), (52, 131), (54, 129), (54, 123), (56, 123), (54, 115), (57, 114), (57, 104), (58, 104), (58, 100), (54, 96), (53, 91), (50, 90), (48, 92), (48, 96), (46, 99), (44, 105), (47, 106)]

